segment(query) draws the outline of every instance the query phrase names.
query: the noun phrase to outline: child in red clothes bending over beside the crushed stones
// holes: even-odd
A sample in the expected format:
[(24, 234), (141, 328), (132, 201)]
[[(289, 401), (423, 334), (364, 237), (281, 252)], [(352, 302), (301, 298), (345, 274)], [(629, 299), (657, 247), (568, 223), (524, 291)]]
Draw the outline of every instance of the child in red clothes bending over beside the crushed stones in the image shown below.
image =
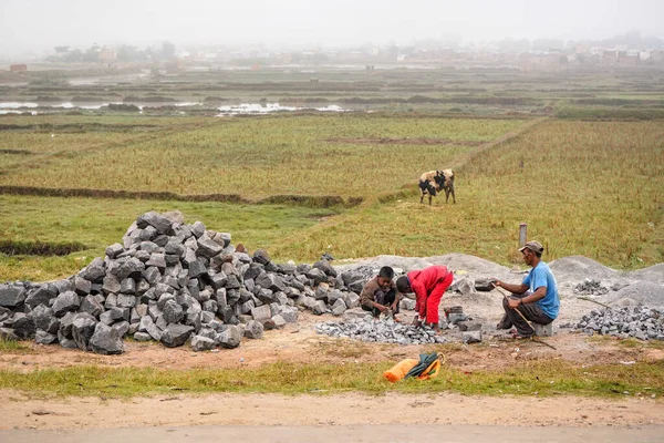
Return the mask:
[(415, 292), (415, 326), (419, 327), (425, 321), (434, 331), (440, 331), (438, 307), (453, 279), (454, 276), (447, 267), (429, 266), (422, 270), (412, 270), (396, 280), (396, 290), (401, 293)]

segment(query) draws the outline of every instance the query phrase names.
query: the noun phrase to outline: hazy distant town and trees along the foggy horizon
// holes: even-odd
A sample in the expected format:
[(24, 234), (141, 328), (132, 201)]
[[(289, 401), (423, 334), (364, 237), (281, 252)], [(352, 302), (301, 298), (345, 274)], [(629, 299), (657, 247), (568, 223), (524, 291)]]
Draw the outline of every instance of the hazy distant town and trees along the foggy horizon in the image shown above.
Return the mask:
[(183, 45), (168, 41), (138, 48), (129, 44), (100, 45), (86, 49), (55, 47), (42, 54), (27, 54), (4, 60), (10, 71), (27, 71), (30, 63), (54, 65), (100, 63), (117, 68), (129, 63), (155, 64), (168, 71), (214, 70), (245, 66), (259, 70), (278, 65), (433, 65), (455, 68), (510, 68), (521, 72), (557, 72), (575, 66), (663, 66), (664, 41), (643, 38), (639, 32), (603, 41), (563, 42), (556, 39), (529, 41), (506, 39), (468, 43), (424, 40), (409, 45), (364, 44), (346, 49), (272, 50), (267, 45)]

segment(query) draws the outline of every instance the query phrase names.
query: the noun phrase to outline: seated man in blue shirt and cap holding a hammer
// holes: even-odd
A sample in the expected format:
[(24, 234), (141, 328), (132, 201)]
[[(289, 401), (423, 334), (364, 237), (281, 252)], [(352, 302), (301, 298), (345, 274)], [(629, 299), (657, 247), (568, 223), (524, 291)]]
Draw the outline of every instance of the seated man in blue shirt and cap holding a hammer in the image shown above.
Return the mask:
[[(498, 329), (517, 328), (519, 338), (528, 338), (535, 330), (519, 315), (521, 312), (528, 321), (549, 324), (558, 317), (560, 299), (558, 285), (549, 266), (541, 260), (544, 248), (538, 241), (528, 241), (519, 249), (523, 254), (526, 265), (532, 267), (520, 285), (509, 285), (500, 280), (494, 281), (499, 288), (512, 292), (511, 297), (502, 300), (505, 316)], [(517, 312), (519, 310), (519, 312)]]

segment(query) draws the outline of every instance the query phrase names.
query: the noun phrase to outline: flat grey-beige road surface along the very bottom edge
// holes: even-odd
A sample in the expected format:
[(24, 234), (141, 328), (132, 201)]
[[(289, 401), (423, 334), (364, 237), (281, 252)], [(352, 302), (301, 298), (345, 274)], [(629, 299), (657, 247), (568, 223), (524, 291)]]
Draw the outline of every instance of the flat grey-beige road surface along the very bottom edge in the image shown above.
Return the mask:
[(8, 442), (662, 442), (664, 426), (527, 427), (468, 425), (184, 426), (84, 431), (0, 431)]

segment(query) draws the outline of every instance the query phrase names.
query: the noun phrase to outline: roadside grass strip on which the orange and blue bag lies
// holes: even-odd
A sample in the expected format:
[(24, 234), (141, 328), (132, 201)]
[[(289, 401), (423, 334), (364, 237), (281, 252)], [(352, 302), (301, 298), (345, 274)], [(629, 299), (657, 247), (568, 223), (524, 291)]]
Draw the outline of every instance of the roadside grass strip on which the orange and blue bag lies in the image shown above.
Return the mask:
[(256, 369), (159, 370), (74, 367), (29, 373), (0, 371), (0, 389), (33, 396), (104, 395), (127, 398), (147, 394), (190, 393), (340, 393), (346, 391), (458, 392), (483, 395), (582, 395), (623, 398), (636, 393), (664, 393), (664, 362), (634, 365), (591, 365), (563, 361), (523, 362), (500, 371), (468, 373), (445, 367), (427, 382), (406, 380), (391, 384), (382, 378), (394, 362), (294, 364), (278, 362)]

